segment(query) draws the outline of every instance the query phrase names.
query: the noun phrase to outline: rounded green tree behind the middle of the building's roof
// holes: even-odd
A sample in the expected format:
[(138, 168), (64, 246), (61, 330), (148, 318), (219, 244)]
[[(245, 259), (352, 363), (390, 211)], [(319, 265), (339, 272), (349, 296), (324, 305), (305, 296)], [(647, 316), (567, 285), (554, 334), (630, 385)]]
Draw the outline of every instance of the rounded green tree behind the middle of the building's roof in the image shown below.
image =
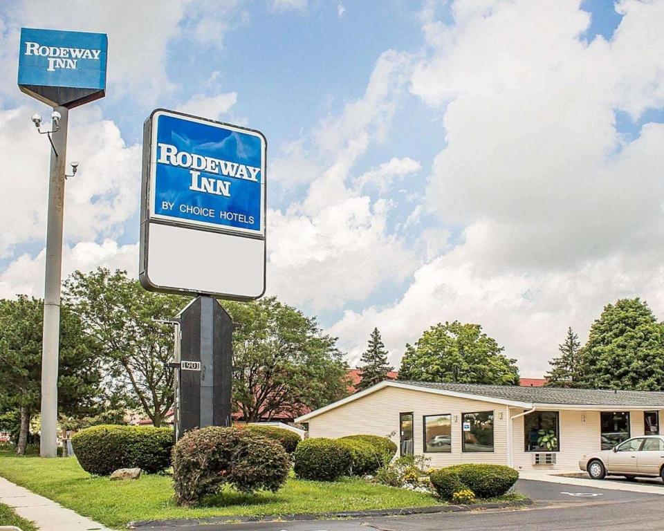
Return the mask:
[(399, 380), (518, 385), (516, 360), (503, 350), (479, 324), (439, 323), (406, 345)]

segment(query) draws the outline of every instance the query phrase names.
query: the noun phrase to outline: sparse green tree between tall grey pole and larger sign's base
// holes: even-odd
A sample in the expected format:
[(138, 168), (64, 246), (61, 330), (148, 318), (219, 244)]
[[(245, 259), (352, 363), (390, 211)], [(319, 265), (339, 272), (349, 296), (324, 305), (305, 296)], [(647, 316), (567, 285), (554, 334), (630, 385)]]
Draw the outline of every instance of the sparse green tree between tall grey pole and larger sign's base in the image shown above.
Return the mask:
[(140, 407), (155, 426), (173, 405), (174, 334), (169, 324), (187, 299), (152, 293), (127, 272), (76, 271), (64, 283), (64, 299), (86, 324), (86, 334), (102, 356), (106, 383), (114, 402)]

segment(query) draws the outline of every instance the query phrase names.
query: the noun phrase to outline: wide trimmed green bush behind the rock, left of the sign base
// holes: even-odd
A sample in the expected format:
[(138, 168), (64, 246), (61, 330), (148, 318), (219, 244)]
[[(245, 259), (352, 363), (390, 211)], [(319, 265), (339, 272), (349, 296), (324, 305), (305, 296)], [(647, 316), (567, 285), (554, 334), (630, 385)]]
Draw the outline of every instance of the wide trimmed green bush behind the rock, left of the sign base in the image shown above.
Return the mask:
[(82, 429), (71, 439), (82, 469), (108, 476), (118, 468), (162, 472), (171, 465), (173, 430), (152, 426), (101, 425)]

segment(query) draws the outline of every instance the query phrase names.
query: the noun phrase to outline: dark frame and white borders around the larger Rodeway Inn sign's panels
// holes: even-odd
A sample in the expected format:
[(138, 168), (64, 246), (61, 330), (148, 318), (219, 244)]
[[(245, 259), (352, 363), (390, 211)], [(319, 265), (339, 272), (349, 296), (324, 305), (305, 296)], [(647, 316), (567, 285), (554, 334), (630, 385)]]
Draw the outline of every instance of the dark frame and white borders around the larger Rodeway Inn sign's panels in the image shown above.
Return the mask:
[[(248, 133), (250, 135), (259, 136), (261, 138), (262, 148), (262, 164), (261, 164), (261, 223), (260, 230), (247, 230), (242, 227), (229, 227), (226, 225), (216, 225), (214, 223), (205, 223), (196, 220), (183, 220), (173, 218), (171, 216), (163, 216), (156, 214), (154, 196), (156, 194), (156, 149), (157, 142), (156, 136), (158, 127), (156, 127), (156, 119), (160, 115), (172, 115), (176, 118), (183, 118), (187, 121), (196, 122), (200, 124), (210, 124), (213, 127), (220, 127), (230, 129), (231, 131), (239, 133)], [(139, 259), (139, 281), (143, 288), (148, 291), (156, 291), (163, 293), (172, 293), (175, 295), (209, 295), (219, 299), (227, 299), (233, 301), (252, 301), (263, 297), (266, 292), (266, 272), (267, 272), (267, 187), (266, 180), (267, 172), (267, 154), (268, 142), (265, 135), (257, 129), (250, 129), (248, 127), (241, 127), (235, 124), (228, 124), (220, 120), (211, 120), (201, 118), (200, 116), (183, 113), (180, 111), (172, 111), (171, 109), (158, 108), (154, 109), (145, 120), (143, 124), (143, 149), (142, 149), (142, 178), (141, 178), (141, 192), (140, 192), (140, 259)], [(248, 241), (261, 241), (262, 242), (262, 290), (255, 295), (239, 295), (232, 292), (219, 292), (211, 290), (199, 290), (190, 288), (181, 288), (178, 286), (165, 286), (156, 283), (149, 278), (149, 245), (150, 245), (150, 229), (151, 227), (178, 227), (179, 229), (197, 231), (204, 233), (216, 233), (219, 235), (229, 236), (232, 239), (242, 239)], [(194, 260), (194, 257), (192, 257)]]

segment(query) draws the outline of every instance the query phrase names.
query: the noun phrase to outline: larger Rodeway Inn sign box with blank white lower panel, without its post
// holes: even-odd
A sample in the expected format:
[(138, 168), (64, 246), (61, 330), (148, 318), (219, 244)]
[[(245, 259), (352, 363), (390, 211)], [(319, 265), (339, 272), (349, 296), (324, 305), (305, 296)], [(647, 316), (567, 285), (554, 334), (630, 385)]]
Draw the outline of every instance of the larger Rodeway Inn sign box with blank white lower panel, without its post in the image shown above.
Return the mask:
[(255, 299), (265, 290), (266, 140), (157, 109), (145, 121), (140, 281)]

